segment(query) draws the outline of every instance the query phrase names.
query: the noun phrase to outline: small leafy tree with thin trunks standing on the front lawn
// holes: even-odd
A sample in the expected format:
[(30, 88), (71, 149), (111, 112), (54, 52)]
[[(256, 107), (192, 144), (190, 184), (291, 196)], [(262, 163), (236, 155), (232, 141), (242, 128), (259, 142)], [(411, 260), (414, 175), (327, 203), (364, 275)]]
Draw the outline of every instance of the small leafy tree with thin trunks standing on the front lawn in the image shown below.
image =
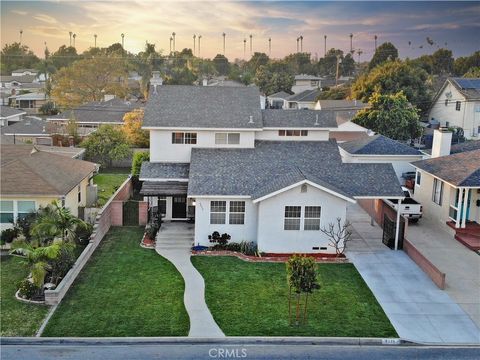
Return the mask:
[[(296, 297), (295, 324), (298, 325), (300, 322), (305, 324), (307, 319), (308, 294), (311, 294), (315, 289), (320, 288), (317, 280), (317, 266), (315, 264), (315, 259), (302, 255), (293, 255), (287, 262), (287, 281), (289, 285), (288, 320), (291, 324), (292, 292), (294, 292)], [(301, 315), (300, 306), (302, 294), (305, 295), (303, 316)]]

